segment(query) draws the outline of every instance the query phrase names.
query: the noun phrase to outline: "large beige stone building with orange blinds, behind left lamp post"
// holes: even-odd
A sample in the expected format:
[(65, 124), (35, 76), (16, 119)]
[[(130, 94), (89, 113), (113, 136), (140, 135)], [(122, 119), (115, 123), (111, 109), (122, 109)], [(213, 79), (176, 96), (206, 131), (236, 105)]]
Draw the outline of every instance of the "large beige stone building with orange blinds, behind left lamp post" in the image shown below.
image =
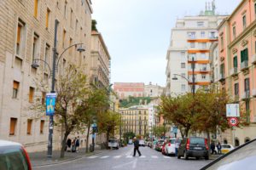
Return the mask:
[[(0, 139), (19, 142), (28, 151), (47, 149), (49, 117), (35, 117), (28, 107), (35, 99), (44, 103), (48, 93), (39, 91), (36, 82), (50, 87), (55, 20), (59, 22), (56, 50), (61, 57), (56, 74), (60, 74), (70, 63), (90, 63), (91, 13), (90, 0), (0, 2)], [(61, 55), (79, 42), (85, 52), (77, 52), (79, 46), (74, 46)], [(32, 67), (34, 59), (38, 68)], [(84, 72), (89, 72), (89, 66)], [(61, 128), (55, 127), (54, 150), (61, 146), (61, 135)], [(82, 144), (84, 139), (81, 136)]]

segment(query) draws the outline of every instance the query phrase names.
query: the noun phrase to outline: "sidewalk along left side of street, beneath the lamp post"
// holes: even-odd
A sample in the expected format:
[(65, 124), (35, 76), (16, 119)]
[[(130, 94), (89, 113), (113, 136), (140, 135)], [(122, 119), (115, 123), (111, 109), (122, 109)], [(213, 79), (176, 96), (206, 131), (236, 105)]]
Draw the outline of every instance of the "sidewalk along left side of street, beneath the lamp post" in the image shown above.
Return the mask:
[(52, 157), (47, 157), (47, 151), (41, 152), (32, 152), (28, 153), (30, 161), (32, 163), (32, 167), (40, 167), (44, 165), (50, 164), (59, 164), (66, 161), (73, 161), (85, 156), (92, 156), (96, 154), (101, 154), (102, 152), (106, 152), (108, 150), (94, 150), (94, 152), (85, 153), (85, 148), (80, 148), (79, 152), (65, 152), (64, 158), (61, 158), (61, 150), (53, 150)]

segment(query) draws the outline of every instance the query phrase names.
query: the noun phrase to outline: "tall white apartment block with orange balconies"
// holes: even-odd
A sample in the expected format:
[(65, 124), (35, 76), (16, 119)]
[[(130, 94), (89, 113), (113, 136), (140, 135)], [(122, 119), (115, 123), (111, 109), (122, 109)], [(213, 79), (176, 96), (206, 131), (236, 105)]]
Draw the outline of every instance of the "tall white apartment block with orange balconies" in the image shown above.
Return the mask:
[(195, 90), (210, 85), (210, 46), (218, 42), (217, 26), (225, 17), (215, 14), (213, 1), (212, 7), (207, 7), (200, 15), (177, 19), (166, 54), (166, 94), (191, 92), (193, 65)]

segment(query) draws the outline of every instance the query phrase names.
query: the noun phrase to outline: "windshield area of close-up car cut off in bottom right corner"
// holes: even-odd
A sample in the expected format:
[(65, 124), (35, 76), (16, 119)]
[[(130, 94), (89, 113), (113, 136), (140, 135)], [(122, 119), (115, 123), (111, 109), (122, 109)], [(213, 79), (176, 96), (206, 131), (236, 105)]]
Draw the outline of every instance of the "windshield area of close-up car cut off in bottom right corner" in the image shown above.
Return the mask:
[(256, 140), (246, 144), (234, 152), (224, 156), (219, 161), (213, 163), (210, 167), (202, 168), (201, 170), (254, 170), (256, 160)]

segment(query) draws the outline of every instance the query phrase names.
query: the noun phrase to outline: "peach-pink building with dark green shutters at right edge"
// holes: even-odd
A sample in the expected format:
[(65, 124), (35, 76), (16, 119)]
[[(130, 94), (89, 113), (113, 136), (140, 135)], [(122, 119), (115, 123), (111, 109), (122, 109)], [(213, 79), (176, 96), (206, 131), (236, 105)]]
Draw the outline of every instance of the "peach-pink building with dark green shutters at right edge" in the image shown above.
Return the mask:
[(256, 137), (256, 2), (242, 0), (218, 26), (221, 87), (247, 111), (248, 126), (228, 130), (222, 139), (236, 146)]

